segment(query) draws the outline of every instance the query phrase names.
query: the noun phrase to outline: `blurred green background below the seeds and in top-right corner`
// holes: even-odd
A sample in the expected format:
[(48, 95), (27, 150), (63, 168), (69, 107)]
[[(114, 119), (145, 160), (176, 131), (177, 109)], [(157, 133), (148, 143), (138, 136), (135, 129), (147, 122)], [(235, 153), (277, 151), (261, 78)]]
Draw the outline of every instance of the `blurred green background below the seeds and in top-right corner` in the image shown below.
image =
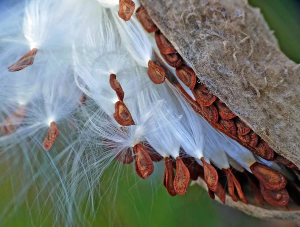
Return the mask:
[[(249, 0), (261, 9), (270, 28), (275, 31), (282, 51), (300, 63), (300, 2), (297, 0)], [(158, 164), (157, 167), (159, 167)], [(160, 166), (161, 167), (161, 166)], [(208, 198), (198, 186), (189, 187), (184, 196), (168, 196), (162, 187), (163, 167), (150, 180), (137, 180), (131, 167), (124, 167), (123, 177), (118, 181), (116, 196), (107, 193), (101, 201), (94, 227), (279, 227), (296, 226), (293, 223), (262, 221), (248, 217), (239, 211), (219, 205)], [(109, 175), (109, 174), (108, 174)], [(109, 177), (109, 176), (108, 176)], [(157, 180), (158, 179), (158, 180)], [(137, 182), (136, 182), (137, 181)], [(16, 187), (16, 186), (14, 186)], [(107, 186), (106, 186), (107, 187)], [(10, 198), (13, 187), (9, 183), (0, 188), (0, 212)], [(105, 185), (104, 187), (105, 188)], [(35, 194), (28, 201), (34, 200)], [(115, 196), (115, 197), (114, 197)], [(42, 213), (30, 210), (23, 204), (7, 217), (5, 227), (53, 226), (45, 209)]]

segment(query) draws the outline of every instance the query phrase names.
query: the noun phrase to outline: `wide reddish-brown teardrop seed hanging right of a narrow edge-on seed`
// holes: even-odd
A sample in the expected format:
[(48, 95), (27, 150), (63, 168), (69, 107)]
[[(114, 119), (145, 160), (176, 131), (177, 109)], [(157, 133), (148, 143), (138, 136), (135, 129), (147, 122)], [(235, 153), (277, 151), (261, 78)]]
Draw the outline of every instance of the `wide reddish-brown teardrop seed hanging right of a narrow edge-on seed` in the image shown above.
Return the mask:
[(189, 182), (189, 172), (180, 157), (176, 158), (176, 175), (174, 178), (174, 190), (182, 196), (185, 194)]

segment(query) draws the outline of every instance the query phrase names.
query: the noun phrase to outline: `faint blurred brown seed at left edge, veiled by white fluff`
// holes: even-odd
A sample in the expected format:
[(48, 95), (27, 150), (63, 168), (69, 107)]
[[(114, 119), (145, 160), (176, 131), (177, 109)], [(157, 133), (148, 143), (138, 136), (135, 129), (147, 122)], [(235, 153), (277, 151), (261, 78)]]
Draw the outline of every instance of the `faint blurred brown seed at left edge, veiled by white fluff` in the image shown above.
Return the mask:
[(20, 105), (10, 116), (5, 117), (1, 123), (0, 131), (3, 135), (15, 132), (25, 118), (25, 106)]

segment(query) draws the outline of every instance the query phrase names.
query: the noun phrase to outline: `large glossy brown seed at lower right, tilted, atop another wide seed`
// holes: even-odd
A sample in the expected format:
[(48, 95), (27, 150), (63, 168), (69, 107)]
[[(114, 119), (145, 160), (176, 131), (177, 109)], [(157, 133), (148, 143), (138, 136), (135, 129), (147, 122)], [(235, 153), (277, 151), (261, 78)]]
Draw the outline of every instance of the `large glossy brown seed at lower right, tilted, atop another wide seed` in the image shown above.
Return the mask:
[(287, 184), (286, 178), (281, 173), (258, 162), (253, 163), (250, 170), (266, 189), (281, 190)]

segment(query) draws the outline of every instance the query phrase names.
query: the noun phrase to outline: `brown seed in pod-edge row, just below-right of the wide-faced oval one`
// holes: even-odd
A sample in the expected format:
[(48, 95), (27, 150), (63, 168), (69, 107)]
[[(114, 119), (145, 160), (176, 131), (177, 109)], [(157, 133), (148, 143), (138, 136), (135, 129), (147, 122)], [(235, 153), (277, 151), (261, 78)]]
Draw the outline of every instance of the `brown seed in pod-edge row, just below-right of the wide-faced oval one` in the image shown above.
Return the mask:
[(204, 84), (197, 83), (191, 91), (201, 106), (210, 106), (216, 100), (216, 96), (211, 94)]

